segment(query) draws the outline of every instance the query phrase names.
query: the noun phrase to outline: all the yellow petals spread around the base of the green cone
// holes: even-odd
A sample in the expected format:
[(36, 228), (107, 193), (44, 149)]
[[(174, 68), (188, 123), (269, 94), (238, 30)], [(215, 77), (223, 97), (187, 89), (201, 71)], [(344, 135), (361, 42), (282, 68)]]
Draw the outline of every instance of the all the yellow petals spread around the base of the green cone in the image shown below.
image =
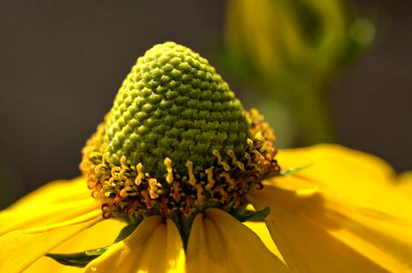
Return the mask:
[[(185, 255), (176, 227), (148, 217), (87, 269), (286, 270), (263, 240), (277, 257), (281, 253), (292, 272), (412, 270), (410, 192), (405, 194), (399, 190), (403, 185), (392, 183), (395, 173), (386, 162), (333, 145), (281, 150), (277, 158), (285, 167), (311, 167), (268, 180), (260, 192), (249, 196), (256, 209), (270, 206), (270, 236), (263, 223), (244, 225), (211, 208), (196, 217)], [(405, 186), (412, 185), (410, 176), (408, 181), (402, 177)], [(28, 272), (81, 271), (43, 255), (106, 247), (125, 226), (114, 218), (103, 220), (83, 177), (41, 187), (3, 211), (0, 222), (1, 272), (27, 267)]]

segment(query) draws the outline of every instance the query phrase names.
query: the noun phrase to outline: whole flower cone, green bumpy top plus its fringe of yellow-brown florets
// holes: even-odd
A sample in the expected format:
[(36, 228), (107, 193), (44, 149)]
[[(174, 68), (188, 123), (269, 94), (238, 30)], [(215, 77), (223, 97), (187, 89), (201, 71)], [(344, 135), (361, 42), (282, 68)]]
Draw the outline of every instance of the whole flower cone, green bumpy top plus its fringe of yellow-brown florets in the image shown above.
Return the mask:
[(104, 217), (231, 209), (279, 170), (275, 136), (205, 58), (155, 45), (126, 77), (80, 164)]

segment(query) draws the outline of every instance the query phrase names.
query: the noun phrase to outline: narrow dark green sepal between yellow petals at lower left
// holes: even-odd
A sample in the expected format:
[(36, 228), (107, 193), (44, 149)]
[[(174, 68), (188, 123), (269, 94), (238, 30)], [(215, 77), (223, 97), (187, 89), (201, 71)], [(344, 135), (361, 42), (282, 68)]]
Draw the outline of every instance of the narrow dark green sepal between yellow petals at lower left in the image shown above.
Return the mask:
[[(113, 244), (120, 242), (121, 240), (127, 238), (132, 232), (136, 229), (136, 227), (143, 221), (143, 217), (137, 217), (136, 222), (126, 227), (123, 227), (120, 230), (119, 235), (115, 239)], [(112, 245), (113, 245), (112, 244)], [(87, 250), (85, 252), (77, 252), (77, 253), (70, 253), (70, 254), (57, 254), (57, 253), (47, 253), (45, 257), (53, 258), (56, 262), (71, 267), (77, 268), (84, 268), (89, 262), (98, 258), (100, 255), (106, 252), (106, 250), (110, 247), (106, 248), (97, 248), (92, 250)]]

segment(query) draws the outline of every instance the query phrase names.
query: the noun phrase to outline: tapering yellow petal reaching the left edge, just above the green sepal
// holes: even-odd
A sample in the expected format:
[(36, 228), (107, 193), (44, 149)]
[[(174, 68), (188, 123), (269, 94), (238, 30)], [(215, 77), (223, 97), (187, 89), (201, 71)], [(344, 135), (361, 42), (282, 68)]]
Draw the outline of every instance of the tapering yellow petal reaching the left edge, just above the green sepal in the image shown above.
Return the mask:
[(50, 249), (100, 220), (101, 211), (95, 210), (59, 224), (7, 233), (0, 238), (0, 268), (21, 272)]

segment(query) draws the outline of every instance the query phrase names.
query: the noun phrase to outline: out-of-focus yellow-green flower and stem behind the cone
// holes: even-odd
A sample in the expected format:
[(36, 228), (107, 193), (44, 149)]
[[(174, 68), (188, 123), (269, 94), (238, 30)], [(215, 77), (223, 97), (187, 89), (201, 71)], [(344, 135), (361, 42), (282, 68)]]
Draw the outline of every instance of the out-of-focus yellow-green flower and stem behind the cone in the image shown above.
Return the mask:
[(327, 87), (374, 35), (343, 0), (228, 0), (224, 62), (281, 147), (333, 142)]

